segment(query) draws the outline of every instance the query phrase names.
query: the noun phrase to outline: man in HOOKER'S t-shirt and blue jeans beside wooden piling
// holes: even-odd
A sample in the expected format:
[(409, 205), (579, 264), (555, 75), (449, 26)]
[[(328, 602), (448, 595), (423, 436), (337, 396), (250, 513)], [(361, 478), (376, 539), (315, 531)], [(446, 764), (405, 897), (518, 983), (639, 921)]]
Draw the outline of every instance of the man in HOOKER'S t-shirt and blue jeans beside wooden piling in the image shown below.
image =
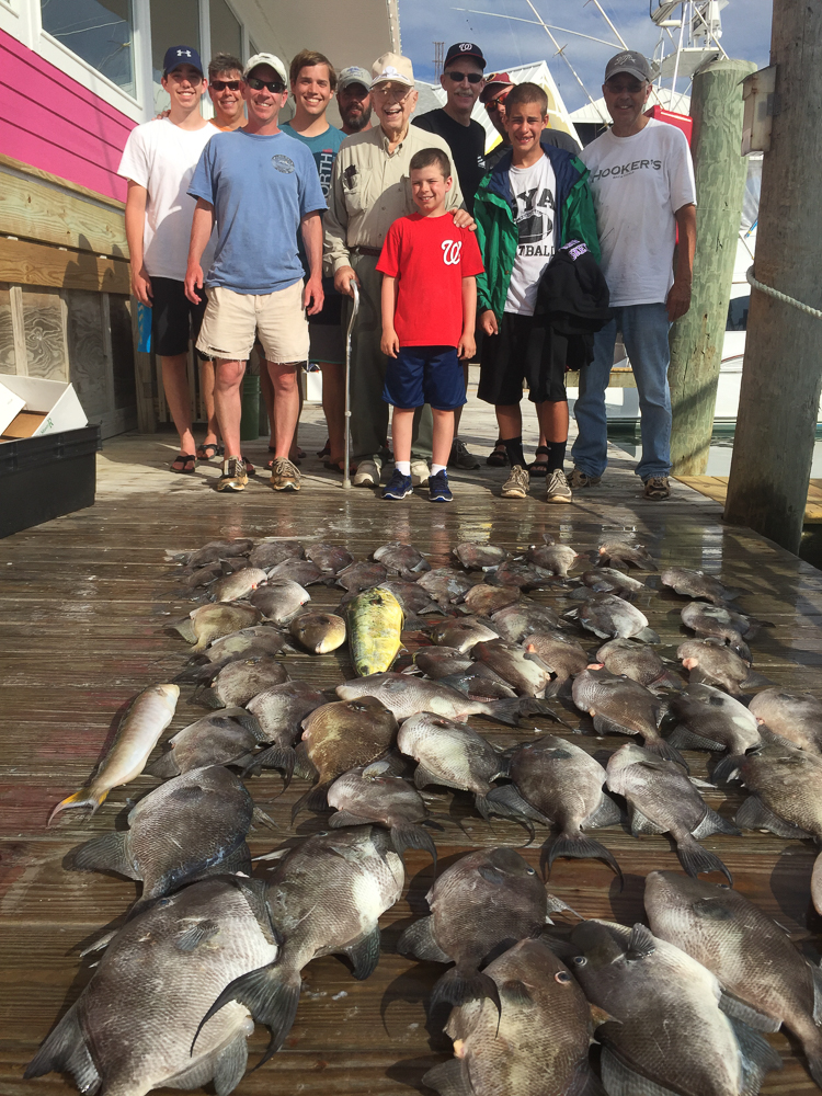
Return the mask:
[[(605, 389), (618, 330), (639, 393), (646, 499), (671, 494), (671, 392), (667, 333), (690, 306), (696, 246), (696, 189), (685, 135), (643, 112), (651, 69), (625, 50), (605, 68), (605, 105), (614, 125), (582, 151), (596, 207), (602, 270), (615, 319), (597, 332), (594, 361), (580, 375), (571, 450), (573, 488), (594, 487), (607, 465)], [(674, 247), (678, 229), (674, 271)]]

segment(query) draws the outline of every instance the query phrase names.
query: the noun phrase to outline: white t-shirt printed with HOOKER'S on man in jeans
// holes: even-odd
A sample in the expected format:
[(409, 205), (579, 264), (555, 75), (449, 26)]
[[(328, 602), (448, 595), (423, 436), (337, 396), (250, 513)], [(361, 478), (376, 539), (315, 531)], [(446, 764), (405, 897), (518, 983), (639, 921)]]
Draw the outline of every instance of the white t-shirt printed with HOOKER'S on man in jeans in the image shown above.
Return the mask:
[(696, 203), (685, 134), (649, 118), (632, 137), (608, 130), (580, 153), (590, 171), (610, 304), (662, 302), (674, 283), (674, 214)]

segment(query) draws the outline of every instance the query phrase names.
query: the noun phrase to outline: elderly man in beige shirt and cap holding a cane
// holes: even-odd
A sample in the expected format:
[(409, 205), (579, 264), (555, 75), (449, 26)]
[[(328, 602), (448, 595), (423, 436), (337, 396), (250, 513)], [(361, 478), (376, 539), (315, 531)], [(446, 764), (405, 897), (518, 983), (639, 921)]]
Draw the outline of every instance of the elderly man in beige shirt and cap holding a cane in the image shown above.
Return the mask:
[[(357, 487), (379, 483), (388, 433), (388, 404), (383, 401), (386, 357), (379, 345), (383, 278), (377, 273), (377, 260), (393, 221), (414, 212), (409, 182), (414, 152), (438, 148), (449, 155), (442, 137), (409, 125), (416, 91), (408, 57), (389, 53), (377, 58), (372, 66), (372, 96), (379, 125), (343, 141), (323, 221), (326, 262), (333, 271), (335, 287), (352, 297), (351, 283), (359, 286), (351, 356), (351, 436)], [(446, 205), (458, 210), (461, 204), (455, 180)], [(464, 210), (457, 216), (464, 226), (472, 225)], [(346, 306), (351, 308), (349, 301)], [(344, 309), (344, 324), (350, 315)], [(411, 449), (411, 475), (418, 483), (427, 482), (430, 456), (431, 412), (425, 408), (422, 416), (415, 418)]]

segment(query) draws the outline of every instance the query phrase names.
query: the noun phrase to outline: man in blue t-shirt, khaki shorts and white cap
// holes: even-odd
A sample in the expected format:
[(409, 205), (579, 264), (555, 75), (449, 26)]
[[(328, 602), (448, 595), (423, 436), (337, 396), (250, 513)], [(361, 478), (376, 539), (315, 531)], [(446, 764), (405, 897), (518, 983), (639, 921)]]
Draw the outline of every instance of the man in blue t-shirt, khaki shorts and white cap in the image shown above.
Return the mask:
[[(298, 491), (288, 459), (299, 418), (298, 367), (308, 357), (308, 321), (322, 308), (322, 210), (326, 199), (313, 159), (301, 141), (277, 126), (285, 106), (285, 66), (256, 54), (246, 66), (243, 129), (216, 134), (199, 158), (189, 194), (197, 199), (185, 292), (205, 283), (208, 306), (197, 349), (215, 361), (215, 403), (225, 444), (218, 491), (242, 491), (240, 383), (255, 335), (274, 388), (277, 444), (271, 486)], [(217, 222), (217, 247), (203, 277), (201, 255)], [(308, 281), (297, 253), (300, 229)]]

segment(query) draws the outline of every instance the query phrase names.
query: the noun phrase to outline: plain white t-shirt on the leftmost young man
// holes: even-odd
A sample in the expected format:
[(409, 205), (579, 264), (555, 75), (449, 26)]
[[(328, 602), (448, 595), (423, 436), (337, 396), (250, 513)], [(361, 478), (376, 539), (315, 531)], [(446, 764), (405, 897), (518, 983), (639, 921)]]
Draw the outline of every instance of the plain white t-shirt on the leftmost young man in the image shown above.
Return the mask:
[[(148, 191), (142, 248), (146, 270), (152, 277), (185, 281), (197, 204), (187, 190), (203, 149), (217, 133), (210, 122), (202, 129), (181, 129), (168, 118), (155, 118), (128, 135), (117, 174)], [(203, 252), (204, 273), (212, 265), (215, 242), (212, 236)]]

